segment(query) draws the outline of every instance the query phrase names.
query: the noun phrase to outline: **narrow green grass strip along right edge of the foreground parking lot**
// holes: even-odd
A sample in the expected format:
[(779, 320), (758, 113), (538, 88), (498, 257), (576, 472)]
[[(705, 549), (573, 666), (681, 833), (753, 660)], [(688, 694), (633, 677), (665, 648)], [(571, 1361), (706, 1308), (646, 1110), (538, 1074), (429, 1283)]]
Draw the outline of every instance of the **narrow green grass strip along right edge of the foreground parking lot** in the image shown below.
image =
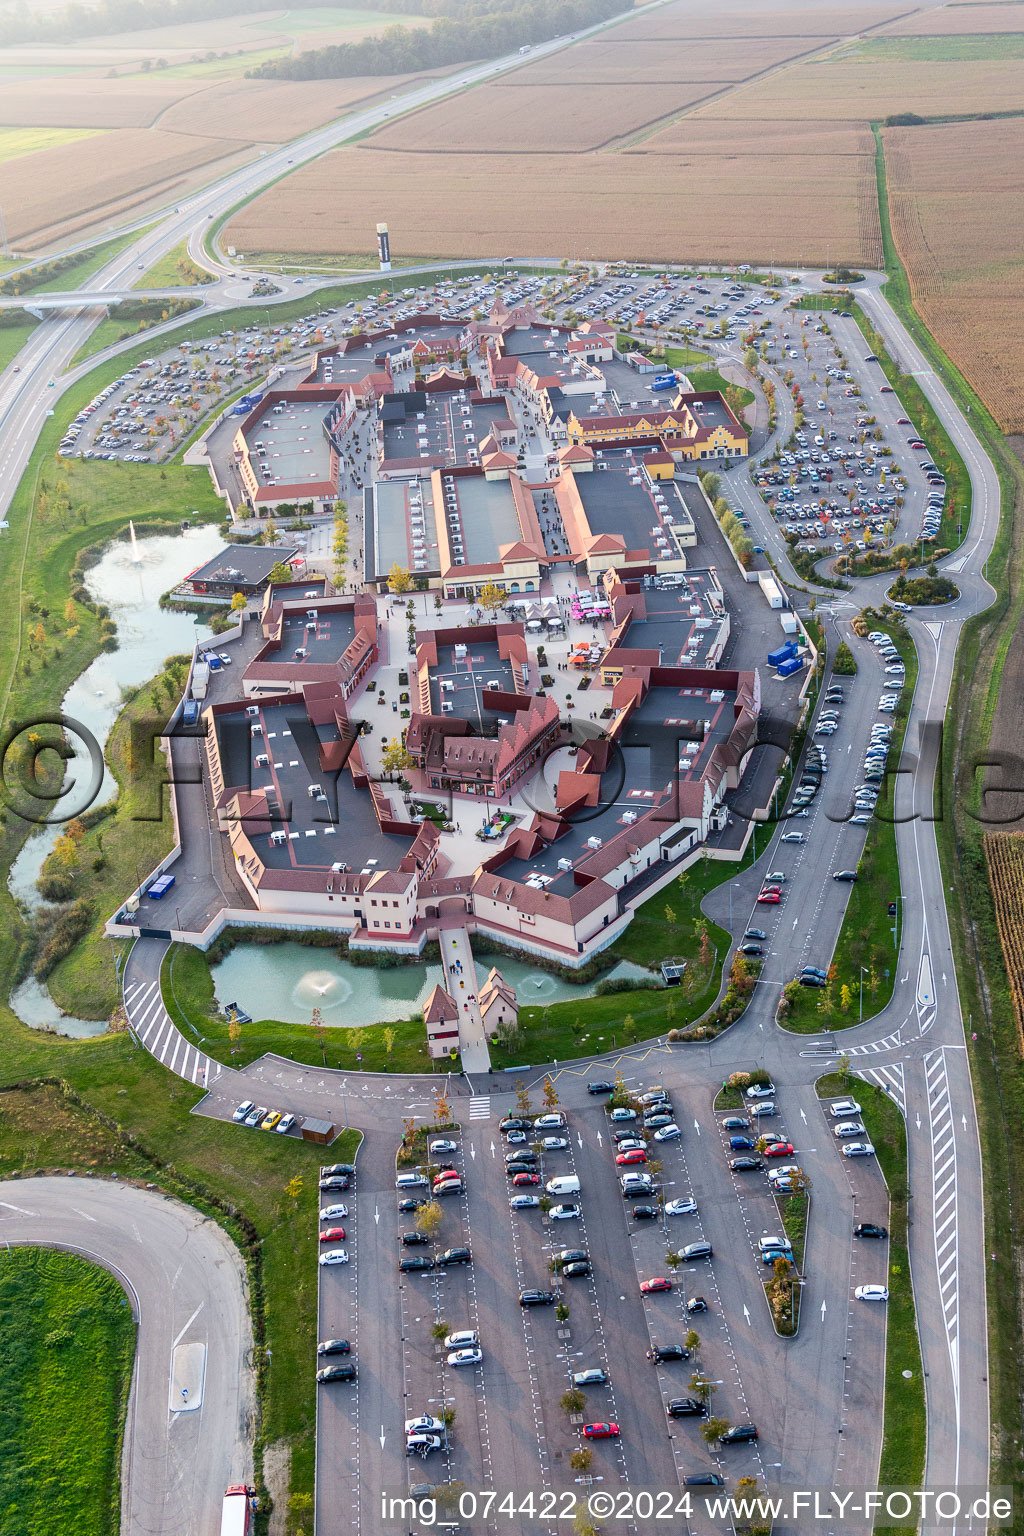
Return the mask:
[[(918, 1487), (924, 1476), (926, 1409), (917, 1312), (907, 1253), (907, 1138), (903, 1115), (887, 1094), (847, 1072), (818, 1078), (818, 1098), (857, 1094), (878, 1166), (889, 1189), (889, 1304), (886, 1405), (880, 1487)], [(904, 1376), (904, 1372), (909, 1375)], [(897, 1528), (875, 1527), (887, 1536)], [(900, 1530), (903, 1536), (903, 1530)], [(910, 1536), (907, 1531), (906, 1536)]]

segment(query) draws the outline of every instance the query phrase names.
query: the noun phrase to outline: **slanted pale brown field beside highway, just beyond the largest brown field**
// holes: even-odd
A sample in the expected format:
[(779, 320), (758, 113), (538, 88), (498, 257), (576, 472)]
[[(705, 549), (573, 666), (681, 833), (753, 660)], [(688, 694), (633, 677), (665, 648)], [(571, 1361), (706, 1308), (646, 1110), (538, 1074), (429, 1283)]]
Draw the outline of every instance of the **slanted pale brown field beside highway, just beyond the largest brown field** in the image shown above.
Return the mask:
[(399, 118), (373, 135), (373, 147), (416, 155), (599, 149), (718, 89), (712, 81), (659, 84), (656, 91), (642, 84), (488, 84)]

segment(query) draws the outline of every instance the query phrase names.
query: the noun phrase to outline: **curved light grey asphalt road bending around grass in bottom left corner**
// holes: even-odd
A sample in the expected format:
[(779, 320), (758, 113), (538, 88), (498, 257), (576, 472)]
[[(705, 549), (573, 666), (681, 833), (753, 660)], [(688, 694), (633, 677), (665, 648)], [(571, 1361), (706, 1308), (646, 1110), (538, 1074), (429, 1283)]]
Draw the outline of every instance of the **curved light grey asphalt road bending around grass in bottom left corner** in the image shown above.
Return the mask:
[(224, 1488), (252, 1479), (253, 1344), (238, 1249), (190, 1206), (130, 1184), (11, 1180), (0, 1195), (2, 1243), (80, 1253), (130, 1299), (121, 1528), (209, 1536)]

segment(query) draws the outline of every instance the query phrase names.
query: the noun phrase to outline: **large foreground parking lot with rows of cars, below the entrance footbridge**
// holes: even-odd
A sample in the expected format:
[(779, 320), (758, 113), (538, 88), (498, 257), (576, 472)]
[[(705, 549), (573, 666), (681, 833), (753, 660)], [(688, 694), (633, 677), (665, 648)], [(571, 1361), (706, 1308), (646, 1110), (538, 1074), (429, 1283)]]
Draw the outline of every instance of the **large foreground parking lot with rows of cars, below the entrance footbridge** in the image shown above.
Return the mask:
[[(639, 1075), (620, 1087), (631, 1092), (648, 1081)], [(321, 1193), (347, 1207), (344, 1220), (325, 1217), (321, 1227), (338, 1220), (348, 1250), (347, 1264), (321, 1269), (321, 1341), (347, 1339), (350, 1353), (338, 1359), (358, 1370), (355, 1382), (319, 1387), (318, 1499), (336, 1514), (332, 1528), (381, 1530), (381, 1488), (456, 1482), (537, 1495), (576, 1487), (679, 1490), (694, 1476), (722, 1478), (728, 1488), (743, 1476), (758, 1476), (771, 1487), (781, 1464), (788, 1481), (791, 1470), (798, 1476), (801, 1415), (840, 1415), (843, 1401), (846, 1412), (851, 1402), (870, 1410), (884, 1349), (884, 1304), (861, 1304), (854, 1292), (884, 1279), (886, 1244), (854, 1238), (851, 1213), (861, 1221), (884, 1220), (887, 1200), (874, 1158), (841, 1155), (849, 1143), (831, 1132), (846, 1121), (832, 1117), (827, 1104), (818, 1107), (808, 1089), (788, 1094), (775, 1086), (771, 1100), (715, 1112), (705, 1086), (683, 1086), (672, 1091), (669, 1111), (669, 1124), (682, 1134), (656, 1143), (648, 1123), (649, 1161), (617, 1166), (614, 1134), (637, 1123), (613, 1121), (606, 1097), (586, 1094), (574, 1075), (559, 1077), (557, 1086), (574, 1100), (568, 1111), (550, 1111), (563, 1115), (565, 1124), (534, 1123), (525, 1141), (502, 1134), (497, 1101), (488, 1106), (488, 1118), (479, 1109), (468, 1118), (467, 1100), (459, 1101), (464, 1123), (439, 1132), (456, 1149), (428, 1154), (431, 1167), (424, 1177), (456, 1180), (461, 1189), (438, 1198), (441, 1224), (425, 1241), (418, 1233), (419, 1207), (402, 1210), (399, 1203), (427, 1201), (430, 1183), (395, 1189), (396, 1144), (385, 1134), (367, 1137), (355, 1187)], [(649, 1091), (657, 1092), (657, 1084)], [(543, 1112), (539, 1097), (534, 1091), (534, 1121)], [(765, 1101), (775, 1114), (754, 1117), (755, 1104)], [(502, 1095), (502, 1106), (513, 1118), (522, 1107), (510, 1094)], [(431, 1107), (418, 1106), (419, 1124), (430, 1123)], [(659, 1112), (657, 1104), (648, 1107), (648, 1117)], [(642, 1106), (637, 1114), (643, 1115)], [(746, 1134), (728, 1127), (731, 1118), (743, 1120), (754, 1137), (771, 1127), (769, 1137), (792, 1154), (761, 1158), (754, 1152), (765, 1167), (731, 1166), (742, 1155), (731, 1137)], [(545, 1138), (567, 1144), (545, 1146)], [(522, 1152), (536, 1160), (527, 1169), (537, 1184), (514, 1186), (507, 1172), (507, 1160)], [(766, 1169), (785, 1166), (801, 1167), (814, 1190), (798, 1279), (814, 1275), (827, 1306), (847, 1315), (849, 1355), (831, 1359), (827, 1372), (814, 1353), (814, 1335), (795, 1353), (791, 1341), (775, 1335), (765, 1296), (774, 1261), (761, 1263), (761, 1246), (783, 1238)], [(623, 1198), (622, 1177), (645, 1169), (651, 1192)], [(548, 1192), (551, 1180), (570, 1184)], [(510, 1201), (524, 1197), (550, 1209), (511, 1209)], [(648, 1206), (652, 1217), (645, 1213)], [(553, 1215), (559, 1207), (574, 1207), (576, 1215)], [(413, 1240), (404, 1243), (405, 1233)], [(709, 1256), (682, 1256), (702, 1243), (711, 1246)], [(321, 1243), (321, 1249), (330, 1246)], [(453, 1250), (468, 1250), (471, 1261), (441, 1263)], [(680, 1261), (669, 1263), (676, 1253)], [(404, 1258), (428, 1264), (402, 1273)], [(579, 1266), (579, 1273), (565, 1273), (567, 1264)], [(642, 1293), (642, 1283), (652, 1279), (666, 1279), (671, 1289)], [(542, 1299), (520, 1306), (530, 1292), (540, 1292)], [(803, 1329), (820, 1321), (808, 1316)], [(467, 1349), (479, 1349), (479, 1361), (470, 1353), (462, 1364)], [(649, 1358), (654, 1352), (663, 1358)], [(680, 1355), (686, 1358), (672, 1358)], [(817, 1372), (821, 1381), (814, 1379)], [(579, 1376), (582, 1405), (565, 1398)], [(783, 1382), (794, 1402), (786, 1413), (780, 1412)], [(669, 1415), (671, 1402), (679, 1404), (679, 1416)], [(709, 1447), (702, 1435), (708, 1415), (729, 1425), (755, 1425), (757, 1439)], [(427, 1439), (410, 1447), (407, 1425)], [(597, 1433), (585, 1436), (588, 1425)], [(590, 1464), (579, 1459), (586, 1450)], [(854, 1456), (849, 1478), (857, 1450), (843, 1450)], [(593, 1482), (579, 1484), (580, 1478)], [(457, 1528), (560, 1527), (467, 1519)], [(643, 1522), (623, 1522), (623, 1528), (642, 1530)], [(700, 1519), (688, 1528), (728, 1527)]]

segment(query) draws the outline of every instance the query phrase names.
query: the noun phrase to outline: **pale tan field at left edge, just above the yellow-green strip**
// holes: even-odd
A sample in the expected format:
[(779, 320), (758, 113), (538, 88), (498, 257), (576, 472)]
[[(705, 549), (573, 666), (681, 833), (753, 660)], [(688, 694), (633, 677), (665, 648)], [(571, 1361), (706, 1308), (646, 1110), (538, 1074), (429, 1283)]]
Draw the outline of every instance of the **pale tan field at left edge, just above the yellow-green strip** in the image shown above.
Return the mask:
[(149, 127), (164, 108), (195, 89), (186, 80), (5, 80), (0, 123), (12, 127)]

